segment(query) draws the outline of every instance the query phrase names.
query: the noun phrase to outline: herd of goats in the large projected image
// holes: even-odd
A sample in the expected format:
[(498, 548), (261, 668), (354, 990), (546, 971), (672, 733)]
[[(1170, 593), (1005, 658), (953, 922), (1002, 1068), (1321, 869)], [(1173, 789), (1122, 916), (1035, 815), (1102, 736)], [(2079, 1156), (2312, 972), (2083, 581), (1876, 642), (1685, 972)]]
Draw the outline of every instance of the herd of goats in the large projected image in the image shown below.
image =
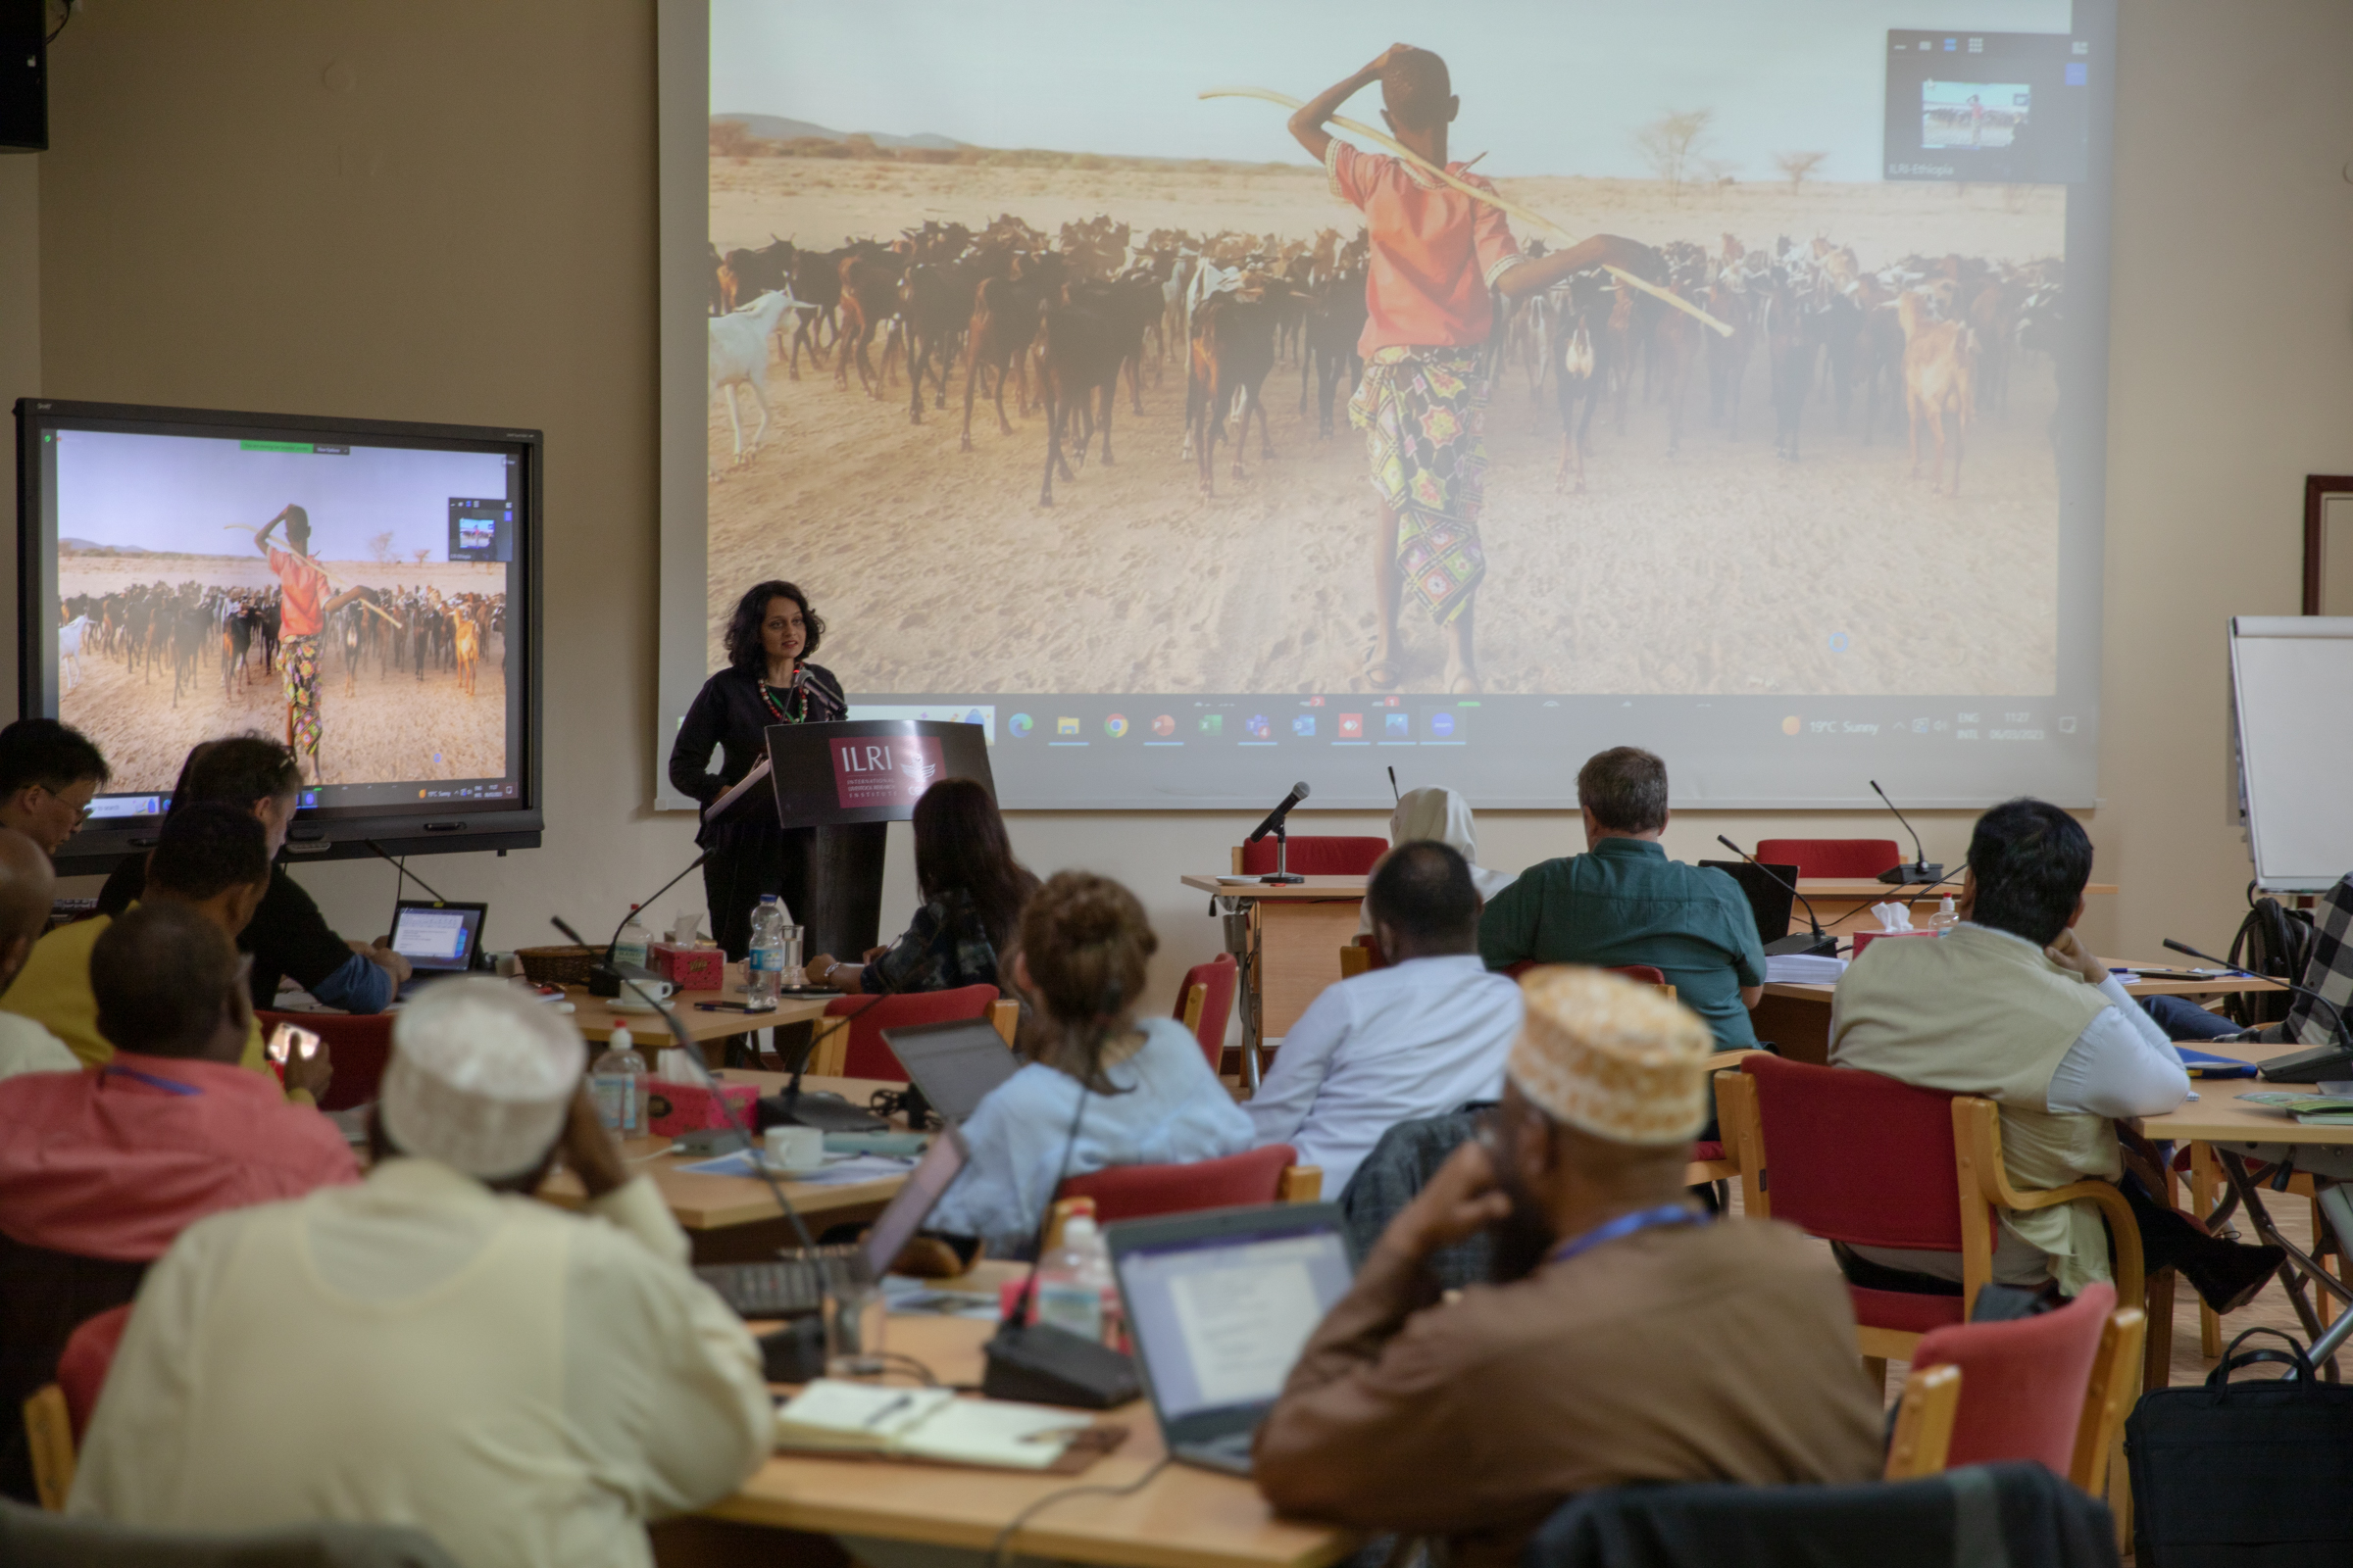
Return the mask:
[[(1541, 242), (1527, 249), (1544, 254)], [(1096, 430), (1101, 461), (1113, 461), (1122, 376), (1141, 416), (1144, 383), (1160, 383), (1174, 348), (1186, 364), (1184, 456), (1212, 494), (1217, 442), (1233, 442), (1233, 477), (1242, 477), (1252, 414), (1261, 454), (1275, 454), (1264, 386), (1280, 362), (1299, 367), (1299, 414), (1313, 383), (1315, 428), (1332, 435), (1334, 397), (1346, 400), (1362, 376), (1365, 268), (1362, 230), (1353, 240), (1332, 228), (1313, 240), (1151, 230), (1136, 242), (1108, 216), (1064, 223), (1059, 237), (1005, 214), (984, 230), (927, 221), (892, 242), (849, 240), (831, 252), (791, 240), (711, 247), (711, 395), (727, 397), (741, 465), (767, 435), (772, 364), (800, 381), (802, 350), (812, 367), (831, 355), (842, 390), (856, 369), (868, 397), (889, 395), (904, 367), (915, 423), (925, 386), (932, 407), (946, 409), (951, 369), (962, 364), (962, 449), (972, 449), (976, 397), (993, 402), (1002, 435), (1014, 433), (1005, 416), (1012, 381), (1021, 414), (1033, 402), (1045, 414), (1038, 503), (1052, 505), (1056, 473), (1073, 477), (1068, 458), (1085, 461)], [(1584, 489), (1595, 409), (1609, 404), (1624, 435), (1638, 383), (1645, 402), (1666, 409), (1668, 451), (1682, 442), (1701, 378), (1708, 423), (1737, 437), (1748, 364), (1762, 355), (1781, 458), (1800, 454), (1807, 404), (1826, 407), (1845, 433), (1859, 397), (1864, 444), (1882, 428), (1892, 437), (1901, 407), (1911, 475), (1920, 477), (1927, 442), (1934, 489), (1958, 494), (1969, 421), (2007, 407), (2021, 353), (2059, 350), (2059, 259), (1915, 254), (1864, 270), (1852, 247), (1826, 237), (1746, 247), (1727, 233), (1715, 252), (1685, 240), (1659, 247), (1649, 282), (1729, 331), (1602, 270), (1520, 301), (1497, 296), (1489, 374), (1525, 374), (1537, 400), (1553, 388), (1562, 489), (1572, 477)], [(758, 407), (748, 451), (736, 388)]]

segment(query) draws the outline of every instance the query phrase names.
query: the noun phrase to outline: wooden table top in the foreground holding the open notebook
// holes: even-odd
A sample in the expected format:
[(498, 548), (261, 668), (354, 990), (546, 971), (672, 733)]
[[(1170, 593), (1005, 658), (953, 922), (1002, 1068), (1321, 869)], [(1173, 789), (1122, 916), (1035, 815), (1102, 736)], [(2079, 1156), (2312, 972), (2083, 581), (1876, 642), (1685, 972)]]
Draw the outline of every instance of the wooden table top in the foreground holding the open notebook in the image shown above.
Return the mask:
[[(892, 1316), (885, 1345), (918, 1356), (941, 1382), (979, 1382), (981, 1342), (995, 1324)], [(1014, 1514), (1071, 1486), (1125, 1486), (1160, 1462), (1151, 1403), (1104, 1413), (1127, 1441), (1082, 1476), (774, 1455), (727, 1502), (708, 1509), (741, 1523), (871, 1535), (986, 1552)], [(1275, 1519), (1259, 1488), (1191, 1465), (1169, 1465), (1127, 1497), (1066, 1497), (1021, 1526), (1026, 1559), (1113, 1568), (1322, 1568), (1358, 1547), (1348, 1530)]]

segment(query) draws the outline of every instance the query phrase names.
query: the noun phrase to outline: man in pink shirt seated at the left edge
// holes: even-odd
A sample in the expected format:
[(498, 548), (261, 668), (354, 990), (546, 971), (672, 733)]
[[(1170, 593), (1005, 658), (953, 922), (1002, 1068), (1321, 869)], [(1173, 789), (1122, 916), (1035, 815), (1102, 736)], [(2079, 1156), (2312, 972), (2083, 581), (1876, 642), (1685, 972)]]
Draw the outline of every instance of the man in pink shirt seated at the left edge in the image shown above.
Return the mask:
[[(245, 961), (186, 903), (141, 903), (89, 952), (96, 1072), (0, 1081), (0, 1408), (56, 1375), (78, 1324), (120, 1307), (191, 1222), (360, 1180), (344, 1135), (238, 1065)], [(289, 1070), (292, 1074), (294, 1070)], [(0, 1427), (0, 1490), (31, 1497), (24, 1425)]]

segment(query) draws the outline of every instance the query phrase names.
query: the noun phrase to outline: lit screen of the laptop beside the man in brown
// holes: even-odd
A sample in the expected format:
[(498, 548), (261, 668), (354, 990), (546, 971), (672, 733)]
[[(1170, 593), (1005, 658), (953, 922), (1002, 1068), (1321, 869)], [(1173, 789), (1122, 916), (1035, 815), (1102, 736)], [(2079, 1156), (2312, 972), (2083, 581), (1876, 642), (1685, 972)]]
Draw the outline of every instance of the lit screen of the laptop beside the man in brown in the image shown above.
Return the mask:
[(1337, 1229), (1202, 1237), (1118, 1267), (1162, 1422), (1273, 1403), (1353, 1274)]

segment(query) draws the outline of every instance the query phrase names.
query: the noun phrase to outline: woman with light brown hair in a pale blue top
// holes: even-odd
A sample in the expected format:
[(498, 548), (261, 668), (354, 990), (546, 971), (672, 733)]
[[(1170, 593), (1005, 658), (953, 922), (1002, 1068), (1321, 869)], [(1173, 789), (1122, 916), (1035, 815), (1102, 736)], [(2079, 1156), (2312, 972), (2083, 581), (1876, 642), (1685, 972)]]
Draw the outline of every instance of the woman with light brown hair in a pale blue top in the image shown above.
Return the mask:
[(1031, 1001), (1028, 1065), (965, 1121), (965, 1173), (929, 1229), (1021, 1253), (1066, 1175), (1191, 1164), (1252, 1145), (1249, 1117), (1174, 1018), (1136, 1018), (1160, 947), (1118, 882), (1056, 872), (1021, 910), (1012, 983)]

